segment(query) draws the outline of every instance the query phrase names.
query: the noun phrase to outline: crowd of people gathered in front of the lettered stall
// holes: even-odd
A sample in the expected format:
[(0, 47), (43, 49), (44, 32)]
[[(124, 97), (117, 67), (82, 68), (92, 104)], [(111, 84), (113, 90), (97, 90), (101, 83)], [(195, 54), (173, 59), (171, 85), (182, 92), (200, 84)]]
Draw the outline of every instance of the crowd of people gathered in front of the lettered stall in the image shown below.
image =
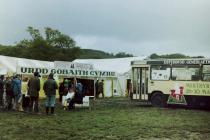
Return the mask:
[[(27, 94), (21, 92), (21, 76), (16, 74), (13, 77), (0, 76), (0, 108), (6, 110), (16, 110), (25, 112), (35, 112), (40, 114), (39, 93), (40, 93), (40, 75), (34, 72), (34, 76), (28, 80)], [(56, 90), (59, 89), (59, 101), (66, 97), (67, 109), (74, 109), (75, 103), (82, 103), (84, 93), (82, 83), (74, 78), (72, 81), (64, 79), (58, 86), (53, 74), (50, 73), (48, 79), (44, 82), (43, 90), (46, 95), (45, 111), (46, 114), (55, 114)], [(67, 96), (68, 95), (68, 96)]]

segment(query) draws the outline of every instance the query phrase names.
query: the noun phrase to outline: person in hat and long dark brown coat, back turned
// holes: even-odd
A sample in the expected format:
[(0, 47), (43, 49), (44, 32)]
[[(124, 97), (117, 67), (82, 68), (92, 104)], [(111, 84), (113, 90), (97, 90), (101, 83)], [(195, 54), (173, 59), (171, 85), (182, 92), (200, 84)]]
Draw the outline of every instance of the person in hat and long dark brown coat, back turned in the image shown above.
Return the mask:
[(29, 103), (29, 112), (33, 110), (34, 105), (34, 111), (36, 113), (39, 112), (39, 91), (40, 91), (40, 75), (38, 72), (34, 72), (34, 77), (30, 78), (28, 81), (28, 95), (30, 97), (30, 103)]

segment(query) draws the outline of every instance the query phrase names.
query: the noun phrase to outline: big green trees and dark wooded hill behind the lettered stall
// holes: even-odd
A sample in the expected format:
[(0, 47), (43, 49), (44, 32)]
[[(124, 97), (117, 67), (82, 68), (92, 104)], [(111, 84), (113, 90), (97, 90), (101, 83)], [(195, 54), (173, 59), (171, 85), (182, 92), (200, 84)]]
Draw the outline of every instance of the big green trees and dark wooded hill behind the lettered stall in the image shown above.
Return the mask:
[(14, 46), (0, 45), (0, 55), (45, 60), (73, 61), (74, 59), (132, 57), (132, 54), (119, 52), (106, 53), (99, 50), (81, 49), (70, 36), (50, 27), (44, 28), (44, 35), (39, 29), (29, 26), (30, 39), (23, 39)]

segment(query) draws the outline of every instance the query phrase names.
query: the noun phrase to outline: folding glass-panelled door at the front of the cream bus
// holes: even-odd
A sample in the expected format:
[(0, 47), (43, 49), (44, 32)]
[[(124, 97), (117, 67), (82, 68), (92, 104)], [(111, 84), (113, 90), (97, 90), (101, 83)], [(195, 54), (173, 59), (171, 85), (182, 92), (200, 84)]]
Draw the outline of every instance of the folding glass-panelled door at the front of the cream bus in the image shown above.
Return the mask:
[(148, 67), (133, 68), (133, 99), (148, 100)]

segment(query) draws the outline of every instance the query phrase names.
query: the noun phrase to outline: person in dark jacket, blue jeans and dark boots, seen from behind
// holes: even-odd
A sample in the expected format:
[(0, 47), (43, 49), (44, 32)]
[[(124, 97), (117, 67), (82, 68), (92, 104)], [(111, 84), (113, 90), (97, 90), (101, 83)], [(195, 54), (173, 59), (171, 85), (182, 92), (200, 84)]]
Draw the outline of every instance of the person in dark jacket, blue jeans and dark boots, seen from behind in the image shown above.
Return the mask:
[(49, 108), (51, 108), (51, 114), (54, 114), (55, 111), (55, 95), (58, 85), (53, 78), (53, 74), (50, 73), (48, 80), (44, 82), (43, 86), (45, 95), (46, 95), (46, 114), (49, 114)]

